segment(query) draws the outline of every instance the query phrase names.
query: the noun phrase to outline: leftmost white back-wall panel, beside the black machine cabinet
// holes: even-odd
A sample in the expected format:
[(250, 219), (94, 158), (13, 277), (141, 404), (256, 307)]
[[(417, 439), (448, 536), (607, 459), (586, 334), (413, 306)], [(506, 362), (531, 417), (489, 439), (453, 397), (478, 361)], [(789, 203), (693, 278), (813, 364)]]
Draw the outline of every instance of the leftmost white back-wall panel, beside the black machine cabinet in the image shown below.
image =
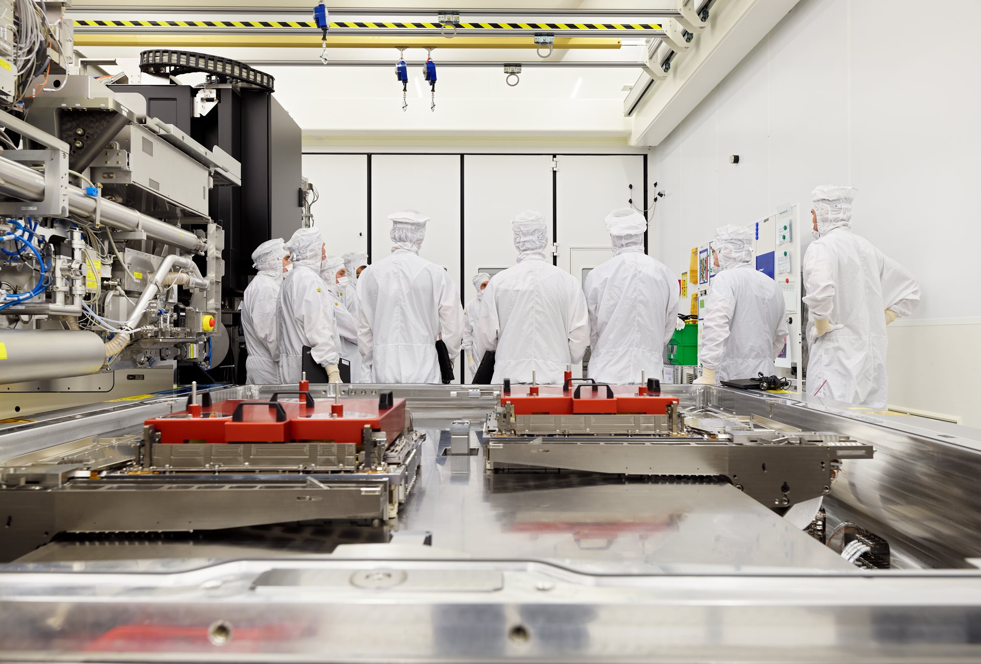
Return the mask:
[(328, 254), (368, 251), (368, 156), (303, 155), (303, 175), (320, 193), (313, 223)]

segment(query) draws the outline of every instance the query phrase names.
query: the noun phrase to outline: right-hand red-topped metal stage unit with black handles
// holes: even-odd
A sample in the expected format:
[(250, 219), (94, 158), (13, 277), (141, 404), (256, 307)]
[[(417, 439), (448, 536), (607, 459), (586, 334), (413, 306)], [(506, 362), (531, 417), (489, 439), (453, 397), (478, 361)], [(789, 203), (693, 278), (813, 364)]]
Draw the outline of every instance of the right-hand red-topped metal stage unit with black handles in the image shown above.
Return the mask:
[(843, 459), (872, 446), (765, 417), (680, 412), (659, 381), (562, 387), (505, 384), (488, 419), (490, 470), (554, 468), (624, 476), (718, 477), (773, 508), (831, 493)]

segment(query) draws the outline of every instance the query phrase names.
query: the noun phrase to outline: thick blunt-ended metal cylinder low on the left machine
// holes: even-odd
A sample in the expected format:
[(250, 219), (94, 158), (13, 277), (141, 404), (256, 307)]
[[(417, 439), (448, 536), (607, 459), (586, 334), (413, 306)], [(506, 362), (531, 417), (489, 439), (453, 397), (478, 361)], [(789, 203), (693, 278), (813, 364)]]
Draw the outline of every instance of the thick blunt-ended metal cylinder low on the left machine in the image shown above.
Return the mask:
[(102, 339), (74, 330), (0, 330), (0, 383), (87, 376), (106, 359)]

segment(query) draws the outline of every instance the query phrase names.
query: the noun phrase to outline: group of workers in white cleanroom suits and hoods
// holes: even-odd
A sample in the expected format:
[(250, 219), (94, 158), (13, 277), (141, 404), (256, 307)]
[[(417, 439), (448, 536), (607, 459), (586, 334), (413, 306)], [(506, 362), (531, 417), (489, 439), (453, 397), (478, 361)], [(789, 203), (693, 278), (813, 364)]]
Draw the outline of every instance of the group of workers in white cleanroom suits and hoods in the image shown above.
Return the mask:
[[(913, 311), (919, 288), (901, 265), (852, 233), (853, 191), (813, 192), (816, 239), (803, 260), (807, 391), (885, 407), (886, 325)], [(517, 264), (493, 278), (477, 274), (477, 295), (466, 308), (446, 270), (419, 256), (428, 217), (388, 218), (391, 254), (371, 265), (364, 254), (329, 257), (316, 228), (256, 249), (258, 274), (242, 304), (250, 383), (298, 381), (303, 347), (333, 382), (343, 358), (352, 382), (437, 383), (438, 340), (451, 361), (462, 353), (468, 379), (493, 352), (492, 383), (529, 383), (533, 372), (539, 383), (561, 383), (588, 347), (597, 382), (660, 375), (665, 345), (681, 325), (679, 282), (646, 255), (642, 213), (625, 208), (606, 216), (613, 258), (591, 270), (583, 287), (546, 256), (542, 215), (518, 213), (511, 222)], [(752, 240), (746, 227), (716, 231), (697, 383), (775, 373), (788, 335), (786, 306), (776, 282), (754, 268)]]

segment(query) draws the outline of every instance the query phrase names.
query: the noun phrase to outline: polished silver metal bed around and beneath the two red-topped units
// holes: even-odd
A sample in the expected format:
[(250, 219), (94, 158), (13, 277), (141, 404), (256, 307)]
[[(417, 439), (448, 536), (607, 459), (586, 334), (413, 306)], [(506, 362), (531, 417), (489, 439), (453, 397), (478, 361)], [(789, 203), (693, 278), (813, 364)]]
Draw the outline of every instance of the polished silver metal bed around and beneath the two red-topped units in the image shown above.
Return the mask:
[[(278, 389), (214, 395), (252, 399)], [(663, 389), (686, 409), (738, 411), (871, 441), (876, 457), (846, 462), (829, 510), (885, 515), (879, 525), (887, 531), (876, 532), (894, 547), (918, 544), (924, 558), (963, 566), (981, 550), (973, 503), (981, 432), (856, 415), (836, 403)], [(313, 387), (315, 396), (329, 390)], [(244, 652), (254, 661), (981, 658), (979, 570), (857, 570), (724, 483), (486, 475), (480, 456), (459, 453), (460, 425), (450, 422), (470, 419), (471, 431), (479, 428), (495, 388), (344, 388), (362, 390), (407, 398), (416, 429), (427, 433), (418, 466), (424, 490), (381, 531), (351, 533), (352, 544), (313, 556), (138, 538), (48, 545), (23, 563), (0, 565), (0, 660), (208, 661)], [(37, 451), (24, 453), (42, 453), (59, 439), (48, 432), (67, 423), (78, 431), (99, 421), (104, 429), (138, 426), (147, 409), (169, 410), (178, 399), (182, 407), (182, 397), (165, 396), (105, 413), (57, 413), (7, 431), (30, 436)], [(444, 455), (454, 431), (458, 453)], [(0, 435), (0, 451), (9, 435)], [(291, 491), (324, 495), (316, 487)], [(366, 544), (378, 541), (369, 532), (390, 544)], [(366, 635), (366, 626), (384, 629)]]

